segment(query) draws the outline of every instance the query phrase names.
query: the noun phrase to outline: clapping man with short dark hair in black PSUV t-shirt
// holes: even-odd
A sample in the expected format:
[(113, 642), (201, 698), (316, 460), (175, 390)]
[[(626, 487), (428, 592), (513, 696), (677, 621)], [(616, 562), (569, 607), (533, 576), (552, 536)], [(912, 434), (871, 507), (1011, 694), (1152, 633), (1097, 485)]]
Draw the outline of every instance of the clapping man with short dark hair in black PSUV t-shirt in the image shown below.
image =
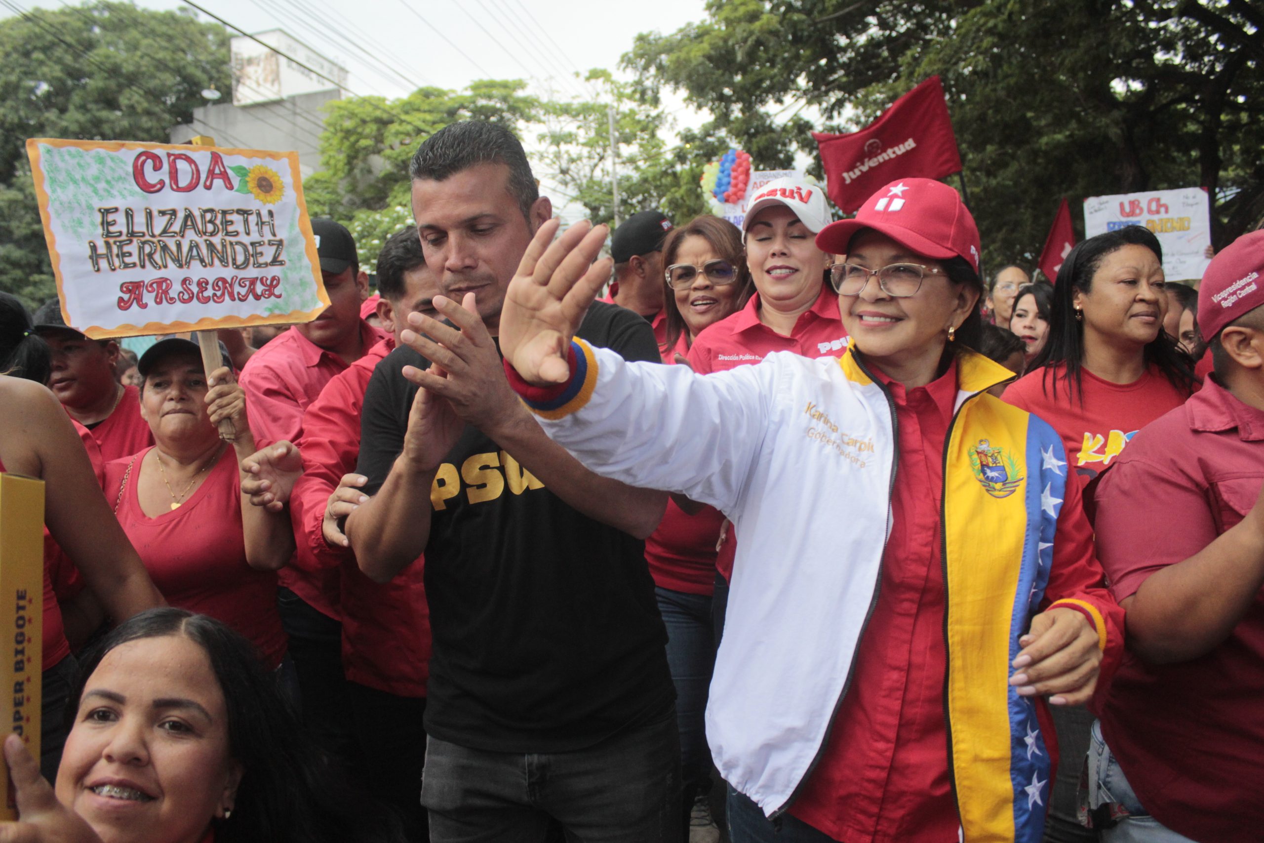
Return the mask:
[[(374, 370), (358, 465), (373, 497), (346, 536), (379, 581), (425, 552), (431, 840), (535, 840), (555, 819), (585, 840), (676, 842), (674, 691), (642, 542), (666, 499), (550, 441), (493, 336), (551, 206), (492, 124), (435, 133), (412, 176), (449, 324), (412, 315), (418, 332)], [(579, 335), (657, 360), (650, 326), (621, 307), (594, 305)]]

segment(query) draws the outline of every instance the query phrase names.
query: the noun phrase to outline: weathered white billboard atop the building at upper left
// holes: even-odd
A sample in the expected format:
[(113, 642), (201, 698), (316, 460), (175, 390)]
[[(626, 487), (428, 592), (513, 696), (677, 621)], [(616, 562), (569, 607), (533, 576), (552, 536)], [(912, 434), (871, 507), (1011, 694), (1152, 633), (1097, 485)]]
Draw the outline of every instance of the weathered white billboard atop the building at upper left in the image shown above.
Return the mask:
[[(254, 40), (255, 38), (258, 40)], [(233, 105), (276, 102), (286, 97), (329, 91), (337, 85), (346, 85), (345, 67), (325, 58), (281, 29), (270, 29), (253, 37), (236, 35), (233, 38), (230, 52), (233, 58)], [(282, 58), (278, 52), (297, 61)], [(308, 67), (319, 71), (319, 75), (307, 70)], [(322, 78), (322, 76), (327, 78)], [(336, 81), (337, 85), (329, 80)]]

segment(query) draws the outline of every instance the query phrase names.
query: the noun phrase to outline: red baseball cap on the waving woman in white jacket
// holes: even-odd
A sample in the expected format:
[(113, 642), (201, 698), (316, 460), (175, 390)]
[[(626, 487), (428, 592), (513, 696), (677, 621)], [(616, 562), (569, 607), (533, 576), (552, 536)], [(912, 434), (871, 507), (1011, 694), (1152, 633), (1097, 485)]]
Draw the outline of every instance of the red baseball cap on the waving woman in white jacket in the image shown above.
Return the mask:
[(964, 258), (978, 272), (978, 226), (961, 195), (933, 178), (901, 178), (865, 200), (851, 220), (830, 222), (817, 248), (847, 254), (861, 229), (873, 229), (902, 246), (937, 260)]

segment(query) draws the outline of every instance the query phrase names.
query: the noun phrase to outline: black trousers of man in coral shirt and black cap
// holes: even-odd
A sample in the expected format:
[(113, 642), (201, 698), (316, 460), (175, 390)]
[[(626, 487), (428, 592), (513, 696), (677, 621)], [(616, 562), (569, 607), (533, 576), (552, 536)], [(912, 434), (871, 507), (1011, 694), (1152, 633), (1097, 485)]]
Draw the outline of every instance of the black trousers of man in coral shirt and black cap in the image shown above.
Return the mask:
[(277, 589), (277, 610), (298, 674), (303, 725), (326, 752), (346, 763), (354, 747), (343, 674), (343, 624), (287, 588)]

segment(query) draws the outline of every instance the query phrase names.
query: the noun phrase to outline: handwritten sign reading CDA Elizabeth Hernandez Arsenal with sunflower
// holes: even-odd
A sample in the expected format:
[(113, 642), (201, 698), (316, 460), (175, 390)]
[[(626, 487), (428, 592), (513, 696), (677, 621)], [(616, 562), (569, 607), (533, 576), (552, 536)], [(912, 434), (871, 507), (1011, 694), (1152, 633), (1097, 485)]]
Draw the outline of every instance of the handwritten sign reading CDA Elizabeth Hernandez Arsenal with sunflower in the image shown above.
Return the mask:
[(94, 339), (307, 322), (329, 306), (298, 154), (27, 142), (62, 316)]

